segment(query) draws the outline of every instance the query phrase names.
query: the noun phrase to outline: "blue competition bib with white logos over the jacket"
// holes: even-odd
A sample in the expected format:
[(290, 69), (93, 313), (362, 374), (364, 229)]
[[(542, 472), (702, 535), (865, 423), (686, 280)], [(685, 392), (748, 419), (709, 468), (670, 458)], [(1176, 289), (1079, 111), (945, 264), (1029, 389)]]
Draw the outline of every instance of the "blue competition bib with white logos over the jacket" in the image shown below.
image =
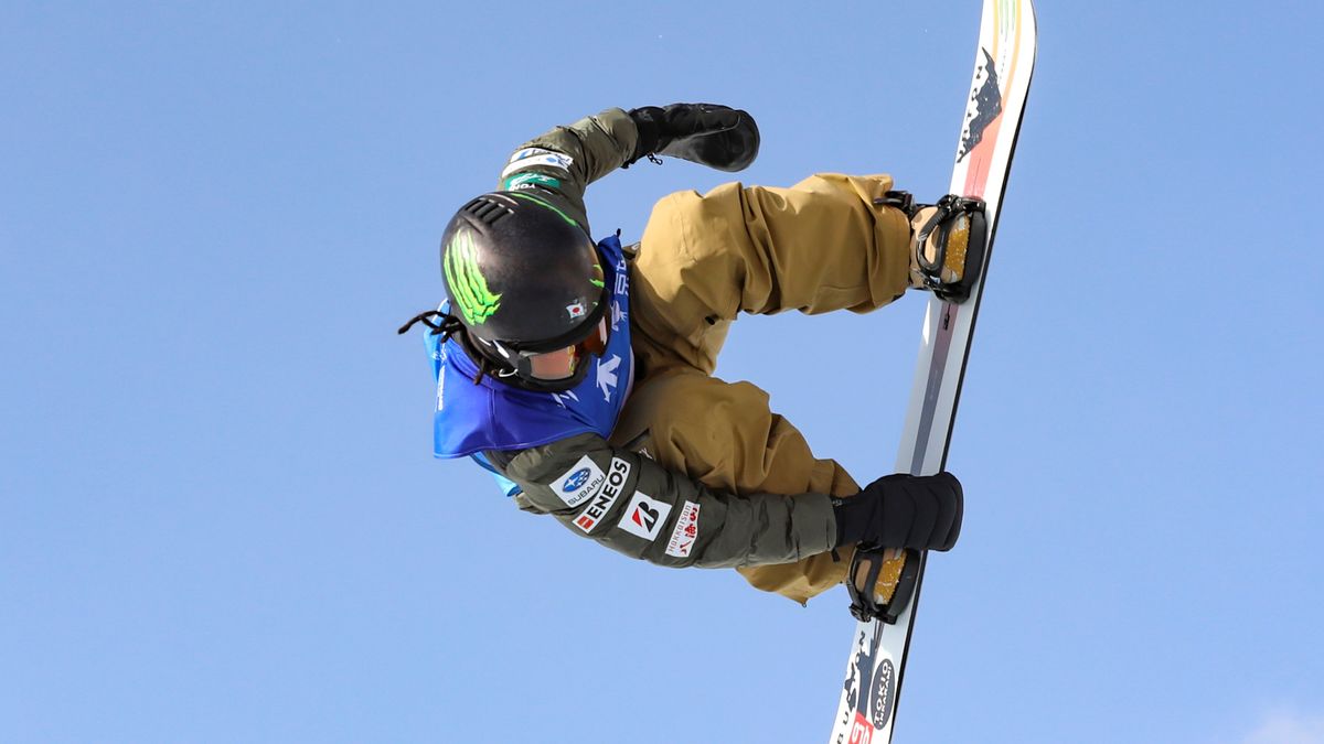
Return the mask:
[(428, 334), (428, 352), (437, 379), (437, 412), (433, 416), (433, 454), (441, 458), (473, 457), (496, 477), (506, 495), (519, 486), (496, 473), (483, 450), (519, 450), (594, 433), (612, 434), (634, 381), (630, 351), (630, 277), (621, 241), (616, 236), (597, 244), (604, 279), (612, 286), (610, 338), (606, 352), (589, 357), (588, 375), (564, 393), (539, 393), (506, 385), (485, 376), (474, 384), (478, 365), (459, 342), (440, 343)]

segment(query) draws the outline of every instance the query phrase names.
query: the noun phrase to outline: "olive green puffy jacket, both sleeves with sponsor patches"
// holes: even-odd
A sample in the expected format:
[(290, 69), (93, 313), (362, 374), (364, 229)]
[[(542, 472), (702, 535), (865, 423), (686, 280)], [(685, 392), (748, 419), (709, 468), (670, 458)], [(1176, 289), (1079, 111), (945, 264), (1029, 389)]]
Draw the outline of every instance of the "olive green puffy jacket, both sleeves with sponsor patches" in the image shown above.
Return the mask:
[[(634, 122), (620, 109), (556, 127), (515, 151), (499, 188), (534, 189), (588, 232), (585, 188), (625, 164), (637, 136)], [(735, 495), (673, 473), (633, 449), (614, 447), (596, 434), (577, 434), (544, 446), (485, 454), (523, 488), (515, 496), (520, 508), (551, 514), (576, 535), (650, 563), (760, 565), (833, 548), (837, 526), (824, 494)], [(556, 486), (576, 474), (581, 479), (587, 475), (587, 490), (569, 506)]]

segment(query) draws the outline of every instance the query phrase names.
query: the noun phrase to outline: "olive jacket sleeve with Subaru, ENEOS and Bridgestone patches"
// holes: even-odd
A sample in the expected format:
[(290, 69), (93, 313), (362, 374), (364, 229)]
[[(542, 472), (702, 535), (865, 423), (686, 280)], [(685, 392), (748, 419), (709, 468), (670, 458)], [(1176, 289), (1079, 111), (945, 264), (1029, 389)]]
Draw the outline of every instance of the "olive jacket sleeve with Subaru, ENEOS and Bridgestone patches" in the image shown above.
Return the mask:
[(524, 490), (522, 508), (658, 565), (790, 563), (831, 549), (837, 536), (825, 494), (716, 491), (596, 434), (486, 455)]

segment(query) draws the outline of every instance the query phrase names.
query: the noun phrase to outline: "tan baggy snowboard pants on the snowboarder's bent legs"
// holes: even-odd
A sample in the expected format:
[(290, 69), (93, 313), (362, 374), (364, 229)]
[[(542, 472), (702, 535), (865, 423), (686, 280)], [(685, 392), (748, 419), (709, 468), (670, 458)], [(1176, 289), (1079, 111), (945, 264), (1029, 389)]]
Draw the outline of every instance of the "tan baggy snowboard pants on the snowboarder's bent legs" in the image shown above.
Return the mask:
[[(814, 457), (771, 410), (768, 393), (712, 372), (739, 311), (867, 312), (906, 291), (908, 221), (874, 205), (890, 188), (890, 176), (821, 173), (792, 188), (732, 183), (662, 199), (633, 274), (642, 375), (613, 443), (646, 433), (658, 463), (728, 492), (858, 492), (837, 462)], [(739, 571), (802, 604), (845, 579), (851, 551), (837, 553)]]

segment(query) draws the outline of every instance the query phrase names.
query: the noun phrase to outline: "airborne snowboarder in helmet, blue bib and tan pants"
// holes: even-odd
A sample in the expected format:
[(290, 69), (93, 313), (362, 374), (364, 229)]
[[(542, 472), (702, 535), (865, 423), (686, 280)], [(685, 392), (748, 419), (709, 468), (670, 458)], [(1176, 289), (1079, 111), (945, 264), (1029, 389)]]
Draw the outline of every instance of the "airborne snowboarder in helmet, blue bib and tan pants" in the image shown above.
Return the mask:
[[(400, 332), (432, 328), (437, 457), (471, 457), (520, 508), (628, 556), (735, 567), (805, 602), (842, 582), (857, 544), (949, 549), (961, 486), (861, 488), (767, 393), (712, 376), (727, 330), (739, 311), (866, 312), (908, 287), (959, 302), (982, 214), (918, 205), (888, 176), (820, 173), (673, 193), (638, 244), (592, 240), (589, 183), (659, 155), (733, 172), (757, 151), (749, 114), (716, 105), (609, 109), (530, 140), (446, 226), (448, 302)], [(816, 384), (851, 367), (805, 361)]]

